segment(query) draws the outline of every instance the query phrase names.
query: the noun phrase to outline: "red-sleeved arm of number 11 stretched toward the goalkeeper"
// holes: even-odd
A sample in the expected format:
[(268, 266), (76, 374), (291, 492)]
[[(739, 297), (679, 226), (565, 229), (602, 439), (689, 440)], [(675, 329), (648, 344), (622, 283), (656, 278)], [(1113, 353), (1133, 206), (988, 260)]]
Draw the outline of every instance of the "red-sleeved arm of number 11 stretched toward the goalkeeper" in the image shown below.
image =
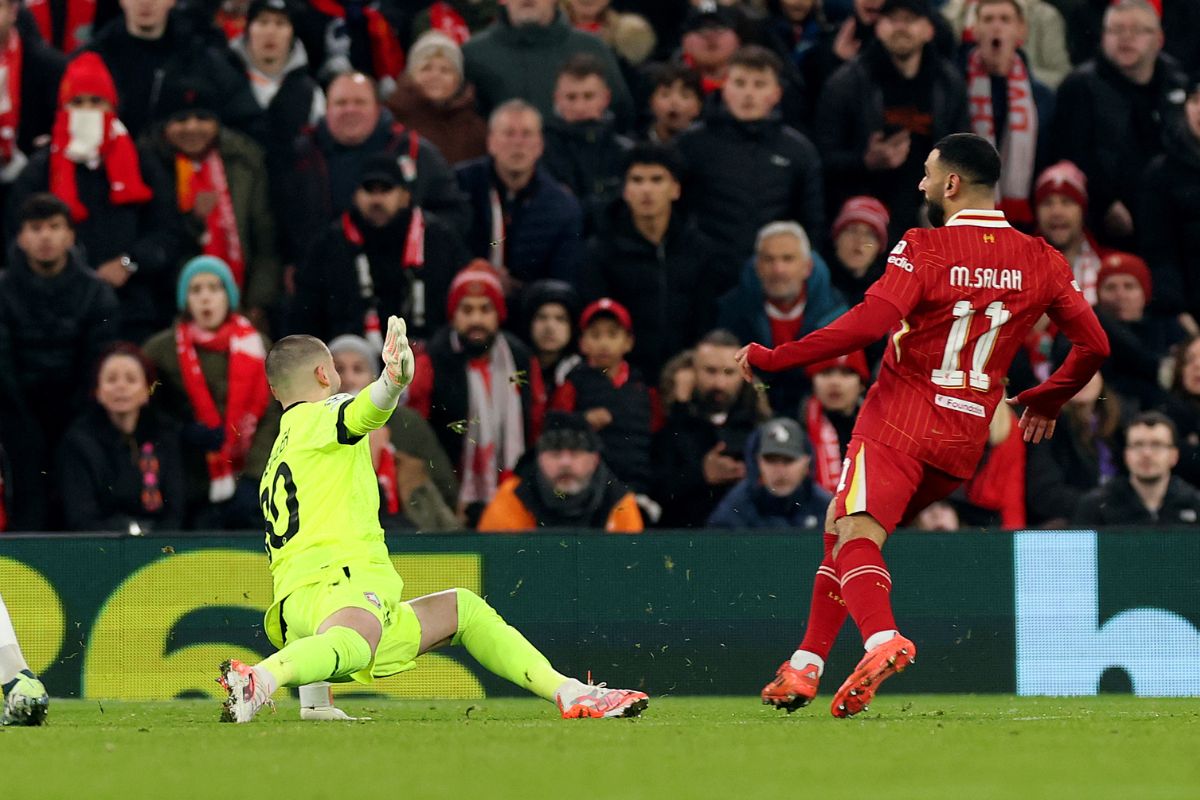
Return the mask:
[(745, 379), (751, 380), (751, 367), (780, 372), (835, 359), (878, 342), (900, 321), (901, 315), (901, 311), (888, 300), (868, 294), (863, 302), (798, 342), (787, 342), (775, 349), (761, 344), (745, 345), (738, 350), (738, 363)]

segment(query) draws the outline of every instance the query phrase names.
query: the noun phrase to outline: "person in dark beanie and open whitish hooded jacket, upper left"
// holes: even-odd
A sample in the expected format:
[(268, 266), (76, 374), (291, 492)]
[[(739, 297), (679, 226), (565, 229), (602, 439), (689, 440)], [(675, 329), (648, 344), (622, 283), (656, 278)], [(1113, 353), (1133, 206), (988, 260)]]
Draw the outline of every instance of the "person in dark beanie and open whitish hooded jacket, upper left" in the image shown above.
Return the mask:
[(272, 182), (282, 178), (295, 138), (325, 116), (325, 94), (308, 73), (308, 53), (295, 35), (289, 0), (253, 0), (246, 26), (229, 42), (263, 114), (252, 133), (263, 145)]

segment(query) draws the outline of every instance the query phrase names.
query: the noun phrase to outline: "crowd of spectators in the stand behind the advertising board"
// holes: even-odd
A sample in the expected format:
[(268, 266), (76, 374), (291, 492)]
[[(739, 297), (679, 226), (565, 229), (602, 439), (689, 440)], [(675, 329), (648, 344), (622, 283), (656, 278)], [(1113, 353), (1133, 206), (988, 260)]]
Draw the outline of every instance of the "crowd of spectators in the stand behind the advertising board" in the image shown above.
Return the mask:
[(820, 527), (886, 342), (734, 354), (859, 302), (960, 131), (1112, 357), (916, 524), (1194, 524), (1193, 0), (0, 0), (0, 530), (258, 527), (271, 342), (356, 391), (391, 314), (389, 528)]

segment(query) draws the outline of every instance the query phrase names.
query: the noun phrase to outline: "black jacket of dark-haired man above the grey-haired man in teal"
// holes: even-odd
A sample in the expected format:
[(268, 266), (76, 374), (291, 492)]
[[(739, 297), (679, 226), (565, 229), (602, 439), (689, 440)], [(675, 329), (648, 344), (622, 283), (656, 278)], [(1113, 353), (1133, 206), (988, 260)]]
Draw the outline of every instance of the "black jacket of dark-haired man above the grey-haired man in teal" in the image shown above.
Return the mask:
[(799, 222), (814, 245), (824, 235), (821, 157), (778, 116), (742, 122), (722, 112), (680, 134), (678, 148), (689, 170), (684, 200), (728, 259), (726, 276), (736, 279), (769, 222)]

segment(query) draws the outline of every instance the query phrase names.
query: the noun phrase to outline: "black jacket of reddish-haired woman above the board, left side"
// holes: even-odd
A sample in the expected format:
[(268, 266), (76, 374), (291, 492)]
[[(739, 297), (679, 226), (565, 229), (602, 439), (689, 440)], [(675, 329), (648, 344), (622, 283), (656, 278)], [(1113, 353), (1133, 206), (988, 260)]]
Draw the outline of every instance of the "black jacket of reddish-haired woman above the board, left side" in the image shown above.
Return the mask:
[[(146, 511), (142, 501), (139, 461), (146, 444), (158, 463), (162, 507)], [(179, 431), (149, 408), (142, 409), (133, 435), (118, 431), (92, 404), (67, 431), (59, 447), (59, 485), (71, 530), (116, 530), (130, 524), (155, 530), (179, 530), (184, 521), (184, 467)]]

